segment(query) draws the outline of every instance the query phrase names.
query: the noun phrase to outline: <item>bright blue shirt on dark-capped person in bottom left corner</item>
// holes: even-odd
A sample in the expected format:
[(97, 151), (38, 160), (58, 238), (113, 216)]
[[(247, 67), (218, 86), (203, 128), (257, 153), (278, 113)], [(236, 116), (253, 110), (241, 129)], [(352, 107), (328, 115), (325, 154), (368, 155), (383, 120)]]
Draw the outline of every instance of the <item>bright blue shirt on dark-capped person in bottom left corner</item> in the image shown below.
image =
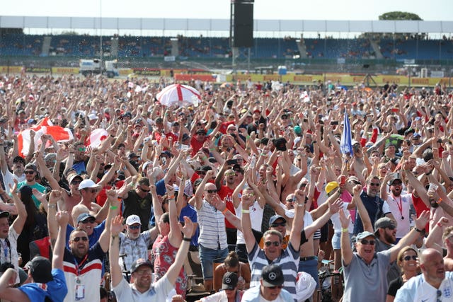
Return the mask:
[(53, 302), (62, 302), (68, 293), (64, 272), (61, 269), (52, 269), (54, 279), (45, 284), (28, 283), (19, 287), (31, 302), (43, 302), (48, 296)]

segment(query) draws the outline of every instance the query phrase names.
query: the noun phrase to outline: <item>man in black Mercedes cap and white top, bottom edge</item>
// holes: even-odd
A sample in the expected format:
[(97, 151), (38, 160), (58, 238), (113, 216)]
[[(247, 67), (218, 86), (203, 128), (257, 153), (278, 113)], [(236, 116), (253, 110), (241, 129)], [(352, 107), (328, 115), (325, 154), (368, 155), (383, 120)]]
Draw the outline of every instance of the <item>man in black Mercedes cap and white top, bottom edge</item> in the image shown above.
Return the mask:
[(283, 289), (285, 276), (279, 265), (267, 265), (263, 267), (260, 278), (260, 286), (254, 286), (246, 290), (242, 296), (242, 302), (279, 301), (293, 302), (294, 298), (289, 291)]

